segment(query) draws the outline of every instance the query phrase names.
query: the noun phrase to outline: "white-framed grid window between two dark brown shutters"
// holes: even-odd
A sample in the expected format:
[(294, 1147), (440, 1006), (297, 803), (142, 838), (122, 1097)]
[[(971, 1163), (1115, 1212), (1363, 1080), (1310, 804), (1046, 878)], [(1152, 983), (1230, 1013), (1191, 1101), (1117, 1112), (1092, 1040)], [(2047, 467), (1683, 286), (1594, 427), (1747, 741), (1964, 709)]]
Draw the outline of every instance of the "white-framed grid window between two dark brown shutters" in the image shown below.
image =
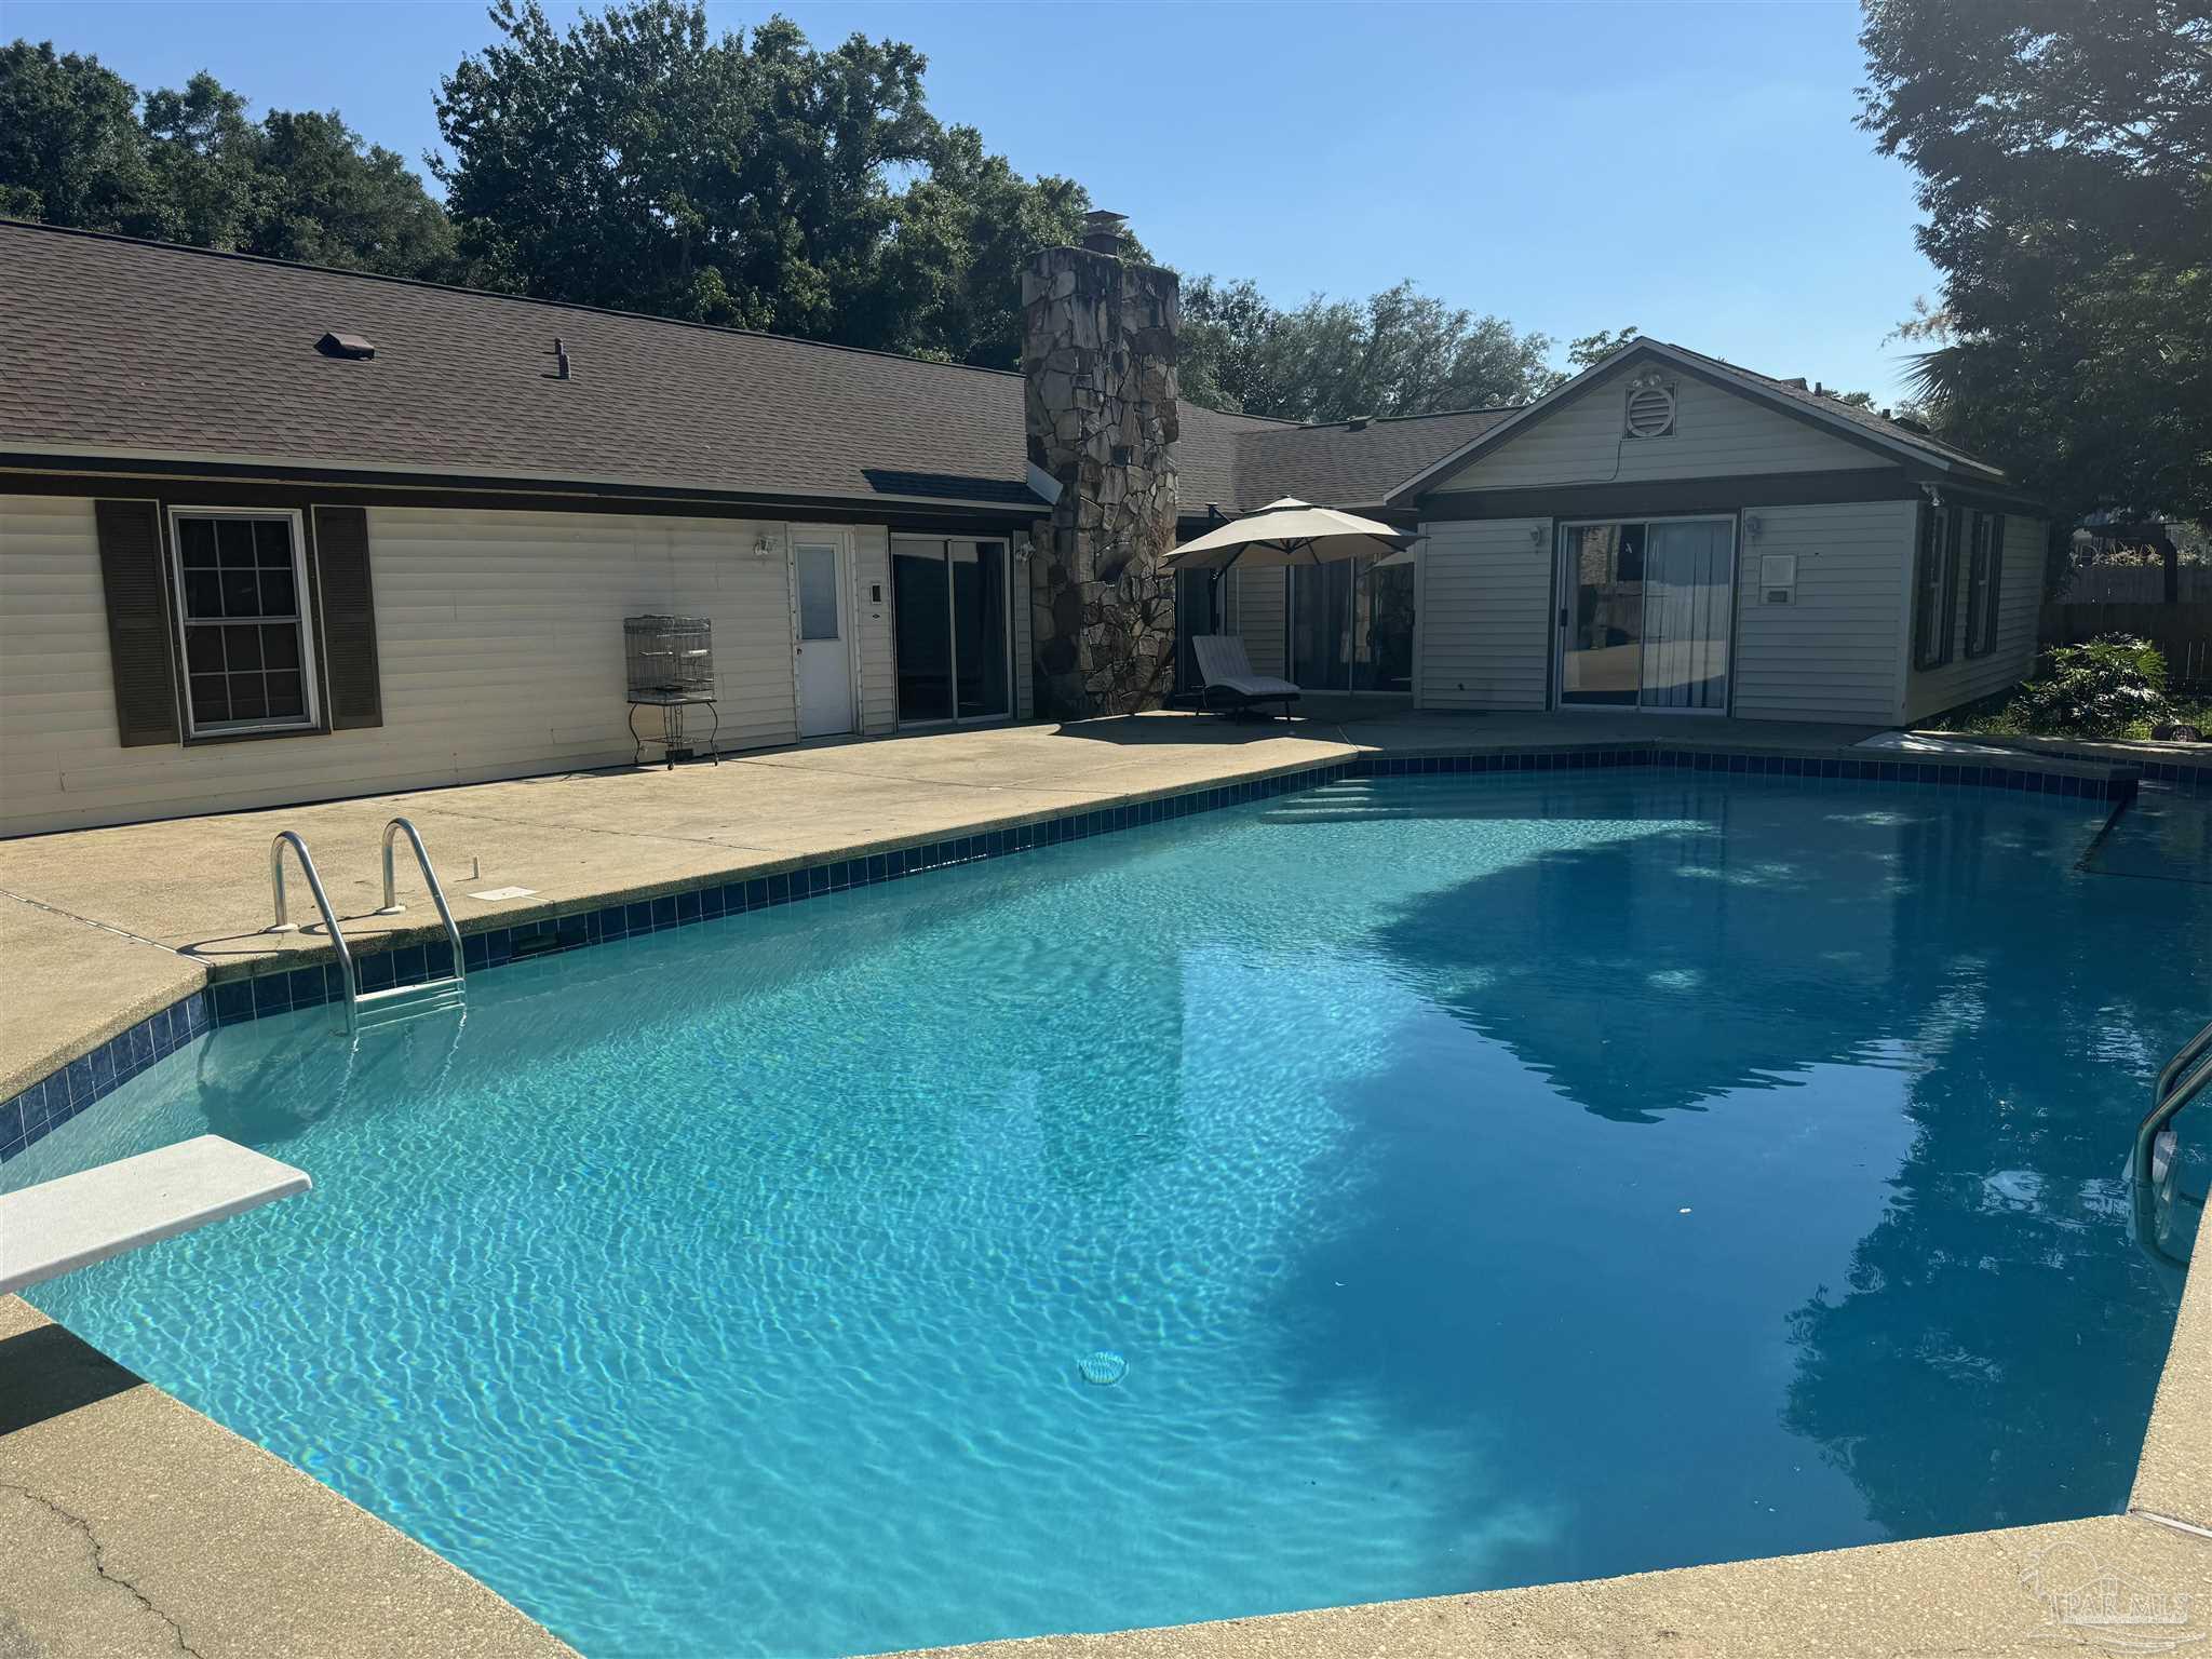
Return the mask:
[(177, 513), (173, 546), (192, 732), (314, 726), (296, 520)]

